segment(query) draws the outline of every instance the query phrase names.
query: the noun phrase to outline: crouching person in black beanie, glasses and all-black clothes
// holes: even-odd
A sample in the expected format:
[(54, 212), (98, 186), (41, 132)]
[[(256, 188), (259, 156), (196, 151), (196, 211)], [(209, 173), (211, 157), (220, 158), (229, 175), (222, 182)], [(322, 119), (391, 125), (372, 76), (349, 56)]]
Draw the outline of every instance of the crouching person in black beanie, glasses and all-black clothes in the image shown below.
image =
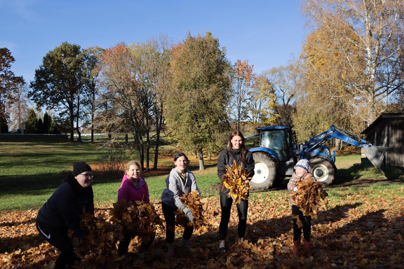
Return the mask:
[(36, 229), (50, 244), (59, 251), (55, 269), (73, 264), (76, 256), (67, 229), (83, 238), (87, 232), (80, 228), (79, 215), (89, 212), (94, 215), (93, 179), (91, 167), (85, 162), (73, 164), (73, 173), (55, 190), (48, 201), (38, 211)]

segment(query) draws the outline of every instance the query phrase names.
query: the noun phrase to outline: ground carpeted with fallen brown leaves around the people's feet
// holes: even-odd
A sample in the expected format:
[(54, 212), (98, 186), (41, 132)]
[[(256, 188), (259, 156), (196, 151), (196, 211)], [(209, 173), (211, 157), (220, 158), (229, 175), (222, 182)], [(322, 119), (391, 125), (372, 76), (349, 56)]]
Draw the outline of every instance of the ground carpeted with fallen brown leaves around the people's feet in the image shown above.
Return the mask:
[[(393, 188), (391, 188), (393, 186)], [(328, 189), (332, 192), (331, 189)], [(328, 191), (327, 190), (327, 191)], [(194, 231), (190, 252), (181, 250), (176, 232), (176, 255), (165, 255), (165, 234), (157, 236), (149, 254), (138, 254), (135, 238), (130, 252), (117, 263), (122, 268), (404, 268), (404, 187), (351, 191), (330, 195), (328, 211), (312, 223), (312, 255), (292, 254), (292, 216), (286, 190), (252, 195), (245, 238), (236, 239), (238, 217), (233, 205), (225, 256), (219, 255), (219, 197), (209, 198), (208, 226)], [(154, 201), (162, 216), (161, 205)], [(109, 214), (109, 205), (96, 211)], [(37, 211), (0, 213), (0, 267), (53, 268), (58, 251), (45, 243), (35, 228)], [(97, 214), (97, 212), (96, 212)]]

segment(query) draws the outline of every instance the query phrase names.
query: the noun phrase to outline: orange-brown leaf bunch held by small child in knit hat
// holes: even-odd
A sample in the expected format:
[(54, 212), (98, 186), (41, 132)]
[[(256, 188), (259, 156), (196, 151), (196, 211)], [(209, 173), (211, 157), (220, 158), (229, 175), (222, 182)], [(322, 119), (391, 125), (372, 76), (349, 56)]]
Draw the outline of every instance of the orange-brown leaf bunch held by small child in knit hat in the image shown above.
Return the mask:
[(296, 187), (297, 192), (292, 194), (296, 205), (300, 207), (303, 215), (317, 219), (317, 212), (320, 206), (324, 205), (325, 209), (328, 208), (328, 200), (326, 199), (328, 193), (324, 190), (323, 184), (313, 181), (311, 177), (308, 177), (306, 181), (297, 181)]

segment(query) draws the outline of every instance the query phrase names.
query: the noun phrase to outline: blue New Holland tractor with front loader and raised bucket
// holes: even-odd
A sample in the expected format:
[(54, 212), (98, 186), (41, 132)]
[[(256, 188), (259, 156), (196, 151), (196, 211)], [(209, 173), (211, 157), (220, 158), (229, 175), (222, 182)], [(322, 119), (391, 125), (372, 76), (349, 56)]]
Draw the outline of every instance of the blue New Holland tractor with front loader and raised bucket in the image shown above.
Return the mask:
[(259, 137), (259, 147), (250, 149), (255, 161), (255, 175), (250, 185), (255, 190), (272, 187), (291, 176), (293, 167), (300, 159), (309, 160), (309, 171), (318, 181), (325, 186), (331, 184), (337, 172), (335, 151), (331, 153), (323, 144), (333, 138), (364, 148), (366, 157), (378, 170), (388, 150), (375, 147), (334, 125), (318, 136), (299, 142), (296, 142), (295, 132), (288, 127), (260, 127), (257, 131), (255, 136)]

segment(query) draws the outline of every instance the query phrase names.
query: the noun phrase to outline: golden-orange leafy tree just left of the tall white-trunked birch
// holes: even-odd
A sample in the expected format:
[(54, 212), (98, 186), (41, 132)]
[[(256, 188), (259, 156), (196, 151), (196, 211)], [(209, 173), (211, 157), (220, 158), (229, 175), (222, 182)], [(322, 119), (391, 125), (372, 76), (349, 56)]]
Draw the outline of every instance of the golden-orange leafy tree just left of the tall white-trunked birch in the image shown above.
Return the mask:
[[(352, 33), (350, 38), (358, 39)], [(337, 49), (341, 47), (345, 51), (350, 51), (351, 60), (356, 63), (356, 68), (365, 68), (364, 61), (360, 59), (361, 54), (358, 47), (351, 42), (343, 44), (338, 42), (326, 28), (320, 27), (307, 36), (307, 42), (304, 44), (301, 54), (303, 61), (302, 99), (296, 106), (297, 113), (294, 119), (298, 136), (301, 136), (302, 132), (306, 133), (304, 137), (301, 137), (302, 139), (321, 133), (328, 129), (330, 124), (335, 124), (357, 135), (366, 125), (368, 113), (362, 104), (364, 96), (357, 93), (354, 98), (349, 86), (360, 81), (351, 72), (351, 67), (343, 60), (345, 55)], [(324, 50), (328, 53), (323, 53)], [(297, 119), (297, 117), (305, 119)], [(308, 126), (307, 124), (315, 123), (316, 126), (312, 127), (314, 133), (302, 130)], [(318, 129), (319, 127), (320, 129)], [(335, 140), (335, 142), (338, 146), (339, 140)]]

